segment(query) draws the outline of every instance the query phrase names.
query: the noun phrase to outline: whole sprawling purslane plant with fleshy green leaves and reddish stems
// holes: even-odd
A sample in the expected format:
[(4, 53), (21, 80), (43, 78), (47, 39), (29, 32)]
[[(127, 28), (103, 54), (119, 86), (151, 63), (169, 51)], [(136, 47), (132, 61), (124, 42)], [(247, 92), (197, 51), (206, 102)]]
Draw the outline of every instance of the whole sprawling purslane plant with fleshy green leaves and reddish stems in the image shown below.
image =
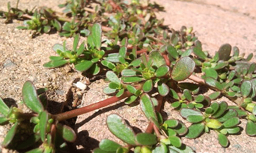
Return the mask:
[[(71, 63), (74, 69), (81, 72), (93, 75), (105, 72), (106, 81), (110, 83), (104, 93), (115, 96), (52, 115), (46, 111), (47, 98), (43, 94), (46, 89), (36, 90), (32, 82), (27, 81), (23, 86), (23, 102), (32, 113), (9, 108), (0, 99), (1, 123), (13, 123), (2, 144), (4, 147), (27, 151), (30, 145), (40, 143), (39, 148), (34, 147), (29, 152), (63, 151), (66, 148), (65, 141), (75, 141), (76, 134), (61, 121), (124, 98), (126, 104), (140, 101), (141, 110), (150, 122), (148, 128), (145, 132), (135, 134), (120, 115), (108, 115), (108, 129), (124, 145), (104, 139), (94, 152), (193, 152), (190, 146), (182, 143), (180, 137), (197, 138), (210, 130), (218, 134), (219, 144), (227, 147), (228, 135), (241, 131), (238, 126), (240, 118), (247, 120), (246, 134), (256, 135), (256, 64), (250, 62), (252, 54), (244, 58), (238, 48), (233, 47), (233, 55), (230, 55), (232, 47), (223, 44), (214, 56), (210, 56), (202, 50), (202, 44), (192, 28), (182, 27), (178, 32), (166, 29), (162, 25), (163, 20), (155, 18), (155, 9), (161, 9), (157, 4), (144, 7), (138, 1), (127, 5), (112, 0), (101, 4), (100, 8), (90, 10), (85, 7), (87, 1), (66, 2), (61, 7), (66, 7), (66, 15), (71, 14), (72, 19), (55, 16), (54, 12), (46, 8), (40, 12), (35, 10), (34, 17), (26, 21), (30, 23), (26, 29), (35, 25), (34, 30), (43, 32), (42, 29), (51, 30), (55, 26), (60, 31), (59, 24), (63, 24), (61, 35), (74, 36), (73, 49), (66, 49), (66, 42), (63, 45), (55, 44), (53, 49), (59, 56), (50, 56), (51, 61), (44, 67), (55, 68)], [(12, 13), (10, 10), (13, 9), (4, 13), (7, 19), (12, 19), (8, 17)], [(52, 18), (48, 18), (50, 15)], [(78, 45), (80, 35), (87, 36), (87, 46), (85, 42)], [(107, 38), (102, 39), (102, 36)], [(198, 72), (202, 73), (201, 78), (196, 77)], [(194, 82), (189, 83), (187, 79)], [(205, 95), (201, 91), (202, 87), (214, 92)], [(152, 96), (154, 94), (157, 95)], [(215, 101), (221, 95), (236, 106), (228, 106), (225, 101)], [(159, 112), (165, 97), (172, 98), (172, 102), (169, 101), (172, 108), (192, 123), (191, 126), (187, 127), (175, 118), (163, 120)], [(17, 137), (23, 134), (20, 130), (23, 127), (29, 127), (29, 137), (23, 143), (16, 143)]]

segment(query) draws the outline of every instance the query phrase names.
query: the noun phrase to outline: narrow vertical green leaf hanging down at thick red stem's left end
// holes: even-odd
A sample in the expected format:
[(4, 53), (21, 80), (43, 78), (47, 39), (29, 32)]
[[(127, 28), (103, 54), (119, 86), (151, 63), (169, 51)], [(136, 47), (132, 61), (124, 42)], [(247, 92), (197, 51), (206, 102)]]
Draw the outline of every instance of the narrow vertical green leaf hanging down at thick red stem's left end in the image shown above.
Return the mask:
[(46, 135), (47, 124), (48, 124), (48, 112), (46, 110), (44, 110), (43, 112), (41, 112), (40, 122), (39, 122), (39, 125), (40, 125), (40, 137), (41, 137), (41, 140), (43, 142), (44, 142), (44, 140), (46, 138), (45, 135)]

